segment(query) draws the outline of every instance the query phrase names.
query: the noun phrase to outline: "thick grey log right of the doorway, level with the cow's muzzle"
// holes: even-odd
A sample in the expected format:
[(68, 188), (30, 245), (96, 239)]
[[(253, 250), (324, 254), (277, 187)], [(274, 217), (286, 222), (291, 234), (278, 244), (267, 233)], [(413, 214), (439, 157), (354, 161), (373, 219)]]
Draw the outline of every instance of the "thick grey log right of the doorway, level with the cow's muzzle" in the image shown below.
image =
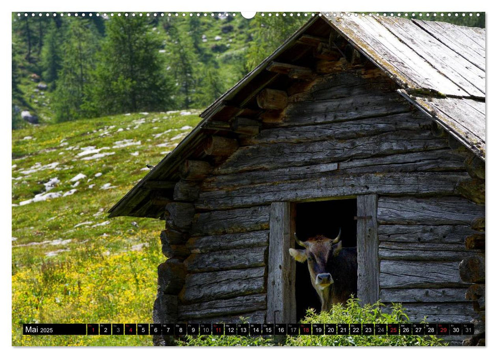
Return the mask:
[(381, 260), (380, 288), (466, 287), (459, 276), (459, 262)]

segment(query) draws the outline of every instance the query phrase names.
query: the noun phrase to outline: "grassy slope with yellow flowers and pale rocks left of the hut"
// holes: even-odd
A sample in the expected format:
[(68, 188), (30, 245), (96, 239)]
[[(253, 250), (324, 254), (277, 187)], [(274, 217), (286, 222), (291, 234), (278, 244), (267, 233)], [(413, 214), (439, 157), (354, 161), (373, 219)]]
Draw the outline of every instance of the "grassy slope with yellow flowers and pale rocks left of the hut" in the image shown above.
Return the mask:
[[(13, 345), (152, 345), (151, 336), (24, 336), (21, 327), (152, 322), (164, 222), (109, 219), (106, 212), (199, 120), (179, 112), (131, 114), (12, 132)], [(123, 140), (140, 144), (113, 148)], [(85, 147), (114, 154), (82, 160), (93, 155), (78, 156)], [(58, 164), (39, 169), (51, 163)], [(86, 177), (73, 188), (70, 179), (80, 173)], [(76, 192), (19, 205), (55, 177), (60, 182), (49, 192)], [(107, 183), (113, 188), (102, 189)]]

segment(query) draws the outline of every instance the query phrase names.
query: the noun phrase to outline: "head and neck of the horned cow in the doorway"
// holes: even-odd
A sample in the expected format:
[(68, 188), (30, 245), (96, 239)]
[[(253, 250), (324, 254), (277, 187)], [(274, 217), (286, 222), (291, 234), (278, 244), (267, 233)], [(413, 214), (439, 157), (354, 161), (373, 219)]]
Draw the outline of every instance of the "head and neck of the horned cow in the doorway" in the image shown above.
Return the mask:
[(312, 285), (321, 299), (321, 309), (330, 308), (329, 288), (334, 281), (329, 268), (333, 264), (334, 257), (342, 249), (342, 242), (339, 241), (340, 234), (341, 229), (338, 236), (333, 240), (326, 236), (318, 235), (309, 238), (307, 241), (300, 241), (297, 235), (294, 234), (296, 243), (305, 249), (289, 249), (290, 255), (295, 260), (299, 262), (307, 260)]

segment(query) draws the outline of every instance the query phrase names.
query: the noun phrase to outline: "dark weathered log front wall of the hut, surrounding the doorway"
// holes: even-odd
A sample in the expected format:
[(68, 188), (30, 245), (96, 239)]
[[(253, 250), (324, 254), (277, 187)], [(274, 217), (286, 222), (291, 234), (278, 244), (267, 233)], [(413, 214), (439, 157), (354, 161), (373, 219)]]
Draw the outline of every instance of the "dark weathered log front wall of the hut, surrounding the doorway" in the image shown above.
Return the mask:
[(470, 175), (470, 152), (396, 89), (376, 69), (331, 73), (289, 88), (276, 118), (263, 113), (260, 132), (239, 137), (185, 204), (191, 222), (168, 229), (184, 230), (189, 254), (164, 264), (181, 266), (165, 287), (178, 321), (265, 321), (271, 203), (362, 194), (378, 194), (379, 298), (404, 303), (414, 321), (478, 318), (466, 299), (478, 282), (463, 281), (459, 263), (483, 256), (465, 244), (485, 216), (484, 195), (467, 189), (482, 178)]

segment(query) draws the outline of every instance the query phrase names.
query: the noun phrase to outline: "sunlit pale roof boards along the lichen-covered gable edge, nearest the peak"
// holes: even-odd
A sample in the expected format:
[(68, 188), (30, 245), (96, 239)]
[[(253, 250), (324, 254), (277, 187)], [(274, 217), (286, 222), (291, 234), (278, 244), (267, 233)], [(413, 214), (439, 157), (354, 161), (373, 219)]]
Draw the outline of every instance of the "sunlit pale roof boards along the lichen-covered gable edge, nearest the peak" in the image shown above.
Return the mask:
[[(409, 88), (436, 91), (451, 96), (469, 96), (462, 88), (441, 74), (428, 61), (400, 41), (372, 16), (328, 18), (347, 38), (379, 68)], [(410, 21), (410, 20), (405, 20)], [(419, 31), (423, 31), (419, 29)]]

